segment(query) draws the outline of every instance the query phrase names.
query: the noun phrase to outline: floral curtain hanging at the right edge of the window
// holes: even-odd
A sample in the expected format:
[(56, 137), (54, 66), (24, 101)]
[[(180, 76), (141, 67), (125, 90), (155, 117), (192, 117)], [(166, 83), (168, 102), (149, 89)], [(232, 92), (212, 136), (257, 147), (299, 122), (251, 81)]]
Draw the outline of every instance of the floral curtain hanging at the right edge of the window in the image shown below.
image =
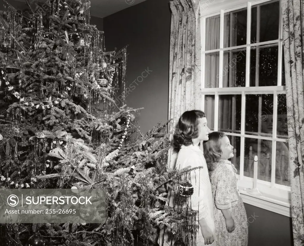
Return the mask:
[(295, 246), (304, 245), (304, 82), (303, 0), (282, 2), (283, 40), (291, 171), (292, 229)]

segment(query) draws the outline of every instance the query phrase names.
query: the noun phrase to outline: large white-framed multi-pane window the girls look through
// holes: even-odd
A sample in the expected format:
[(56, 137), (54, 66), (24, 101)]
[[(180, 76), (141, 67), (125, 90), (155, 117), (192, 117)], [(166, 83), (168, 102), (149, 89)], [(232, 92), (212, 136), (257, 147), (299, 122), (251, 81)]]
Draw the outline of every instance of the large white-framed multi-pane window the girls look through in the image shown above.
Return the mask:
[[(234, 146), (231, 161), (240, 189), (253, 187), (257, 156), (262, 196), (254, 198), (271, 204), (272, 210), (274, 204), (283, 207), (282, 214), (289, 216), (281, 3), (224, 2), (210, 4), (201, 14), (202, 110), (209, 128), (226, 132)], [(248, 195), (244, 190), (242, 194)]]

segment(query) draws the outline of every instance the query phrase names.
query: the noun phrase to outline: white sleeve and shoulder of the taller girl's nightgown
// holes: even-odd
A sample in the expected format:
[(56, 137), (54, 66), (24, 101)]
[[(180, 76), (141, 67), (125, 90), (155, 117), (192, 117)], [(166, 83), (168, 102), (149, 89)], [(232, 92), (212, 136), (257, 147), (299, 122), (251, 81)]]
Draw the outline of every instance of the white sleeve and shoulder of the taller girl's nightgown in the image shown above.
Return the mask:
[[(181, 166), (183, 166), (183, 168), (187, 166), (203, 166), (202, 159), (199, 158), (198, 155), (193, 154), (192, 156), (187, 156)], [(202, 175), (201, 169), (195, 169), (190, 172), (189, 182), (193, 186), (193, 194), (191, 198), (188, 199), (188, 205), (191, 205), (192, 210), (198, 211), (196, 214), (196, 220), (206, 218), (209, 213), (209, 207), (207, 205), (208, 201), (206, 201), (206, 199), (209, 197), (206, 195), (206, 179), (209, 179), (209, 176), (207, 175), (207, 177), (204, 177)]]

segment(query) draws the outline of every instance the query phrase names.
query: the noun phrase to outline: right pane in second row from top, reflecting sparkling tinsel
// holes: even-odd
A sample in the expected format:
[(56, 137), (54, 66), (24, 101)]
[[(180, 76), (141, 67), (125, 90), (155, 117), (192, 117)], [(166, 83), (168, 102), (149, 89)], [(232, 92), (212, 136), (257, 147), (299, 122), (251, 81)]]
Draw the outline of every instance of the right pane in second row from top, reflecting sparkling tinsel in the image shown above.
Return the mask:
[(278, 46), (252, 48), (250, 86), (276, 85), (278, 85)]

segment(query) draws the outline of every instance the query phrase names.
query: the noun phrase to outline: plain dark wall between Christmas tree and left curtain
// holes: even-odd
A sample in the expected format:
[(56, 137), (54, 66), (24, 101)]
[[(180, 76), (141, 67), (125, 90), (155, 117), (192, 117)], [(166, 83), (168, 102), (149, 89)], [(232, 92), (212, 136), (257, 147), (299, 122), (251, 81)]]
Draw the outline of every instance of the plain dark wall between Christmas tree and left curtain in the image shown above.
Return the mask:
[(142, 133), (168, 119), (170, 22), (168, 0), (148, 0), (103, 18), (106, 50), (129, 45), (126, 104), (144, 108)]

